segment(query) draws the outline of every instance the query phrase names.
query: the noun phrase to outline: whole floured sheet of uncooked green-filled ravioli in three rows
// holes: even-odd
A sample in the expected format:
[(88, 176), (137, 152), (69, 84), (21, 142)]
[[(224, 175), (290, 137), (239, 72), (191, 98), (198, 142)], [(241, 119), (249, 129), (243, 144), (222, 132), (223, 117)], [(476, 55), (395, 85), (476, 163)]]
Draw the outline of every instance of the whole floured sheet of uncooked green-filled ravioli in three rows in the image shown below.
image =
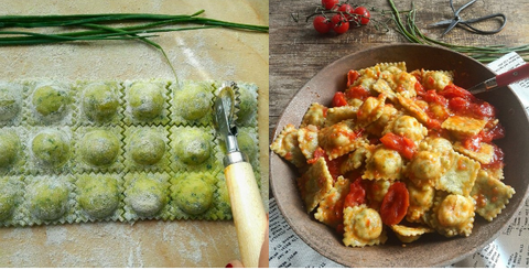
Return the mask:
[[(0, 83), (0, 225), (231, 219), (213, 126), (220, 84)], [(260, 182), (258, 87), (238, 85), (240, 147)]]

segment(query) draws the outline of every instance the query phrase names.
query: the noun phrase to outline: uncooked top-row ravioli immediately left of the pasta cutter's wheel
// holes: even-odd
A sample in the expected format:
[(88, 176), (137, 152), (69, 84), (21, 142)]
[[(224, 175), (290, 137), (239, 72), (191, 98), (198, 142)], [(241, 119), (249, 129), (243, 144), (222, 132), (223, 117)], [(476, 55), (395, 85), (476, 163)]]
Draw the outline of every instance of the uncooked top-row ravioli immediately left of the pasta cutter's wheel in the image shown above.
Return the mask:
[(205, 127), (213, 125), (215, 83), (190, 82), (172, 84), (171, 119), (177, 126)]

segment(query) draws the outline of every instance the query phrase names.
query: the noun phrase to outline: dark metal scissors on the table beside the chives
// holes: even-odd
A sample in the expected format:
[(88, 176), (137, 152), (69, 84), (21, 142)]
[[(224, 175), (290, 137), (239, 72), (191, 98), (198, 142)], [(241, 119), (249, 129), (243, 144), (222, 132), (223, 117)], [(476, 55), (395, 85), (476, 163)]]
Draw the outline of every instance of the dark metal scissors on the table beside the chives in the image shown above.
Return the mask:
[[(454, 3), (452, 0), (450, 0), (450, 7), (452, 8), (452, 11), (454, 12), (454, 19), (452, 20), (444, 20), (444, 21), (440, 21), (440, 22), (436, 22), (436, 23), (433, 23), (433, 24), (430, 24), (429, 26), (445, 26), (445, 25), (449, 25), (446, 28), (446, 30), (444, 31), (444, 33), (441, 35), (445, 35), (446, 33), (449, 33), (453, 28), (455, 28), (457, 24), (460, 25), (464, 25), (465, 29), (467, 31), (471, 31), (471, 32), (474, 32), (474, 33), (477, 33), (477, 34), (496, 34), (498, 33), (499, 31), (501, 31), (501, 29), (504, 29), (505, 24), (507, 23), (507, 18), (505, 17), (505, 14), (503, 13), (495, 13), (495, 14), (490, 14), (490, 15), (485, 15), (485, 17), (481, 17), (481, 18), (476, 18), (476, 19), (471, 19), (471, 20), (463, 20), (461, 17), (460, 17), (460, 12), (463, 11), (464, 9), (468, 8), (471, 4), (473, 4), (474, 2), (476, 2), (477, 0), (471, 0), (469, 2), (463, 4), (461, 8), (458, 8), (457, 10), (455, 10), (454, 8)], [(471, 24), (472, 23), (476, 23), (476, 22), (481, 22), (481, 21), (485, 21), (485, 20), (488, 20), (488, 19), (493, 19), (493, 18), (499, 18), (501, 19), (501, 25), (496, 29), (496, 30), (489, 30), (489, 31), (486, 31), (486, 30), (481, 30), (481, 29), (476, 29), (474, 26), (472, 26)]]

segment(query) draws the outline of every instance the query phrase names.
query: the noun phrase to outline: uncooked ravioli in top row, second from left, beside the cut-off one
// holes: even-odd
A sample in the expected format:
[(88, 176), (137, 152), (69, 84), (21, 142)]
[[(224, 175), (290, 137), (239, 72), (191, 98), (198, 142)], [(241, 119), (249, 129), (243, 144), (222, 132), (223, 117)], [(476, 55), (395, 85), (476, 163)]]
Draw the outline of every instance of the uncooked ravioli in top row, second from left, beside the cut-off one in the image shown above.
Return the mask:
[(73, 85), (62, 82), (26, 82), (24, 120), (30, 126), (75, 125)]

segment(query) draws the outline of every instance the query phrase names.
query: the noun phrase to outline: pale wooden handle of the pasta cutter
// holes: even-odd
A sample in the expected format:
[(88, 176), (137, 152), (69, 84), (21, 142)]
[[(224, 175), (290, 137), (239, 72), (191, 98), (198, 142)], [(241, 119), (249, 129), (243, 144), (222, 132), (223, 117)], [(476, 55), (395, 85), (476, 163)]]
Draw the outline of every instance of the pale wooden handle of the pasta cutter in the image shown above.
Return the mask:
[(262, 242), (268, 239), (264, 239), (267, 217), (256, 176), (248, 162), (230, 164), (224, 174), (242, 263), (257, 268)]

